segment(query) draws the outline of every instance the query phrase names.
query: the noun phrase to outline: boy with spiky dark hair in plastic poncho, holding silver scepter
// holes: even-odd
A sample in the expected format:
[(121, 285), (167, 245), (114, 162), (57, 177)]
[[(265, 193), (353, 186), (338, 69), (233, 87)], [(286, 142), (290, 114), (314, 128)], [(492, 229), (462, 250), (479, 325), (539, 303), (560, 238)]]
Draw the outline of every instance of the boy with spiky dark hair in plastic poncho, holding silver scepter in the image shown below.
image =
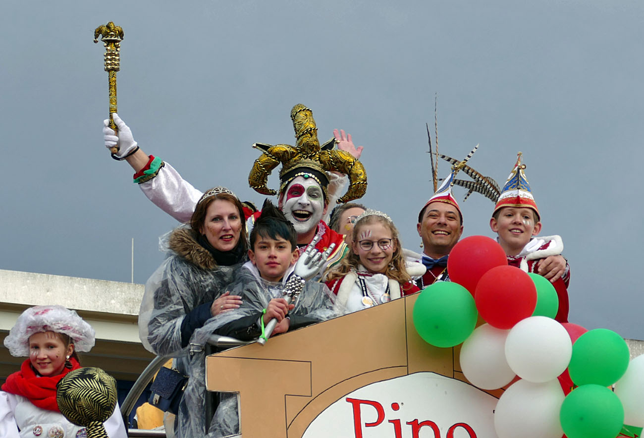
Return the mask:
[[(305, 282), (317, 274), (328, 254), (316, 251), (316, 242), (312, 242), (299, 260), (297, 233), (269, 200), (264, 202), (250, 241), (250, 261), (227, 288), (242, 296), (242, 305), (222, 314), (215, 327), (217, 334), (245, 341), (266, 339), (270, 333), (265, 333), (265, 327), (271, 319), (277, 321), (272, 334), (279, 334), (336, 316), (328, 288)], [(331, 251), (333, 247), (327, 249)], [(286, 291), (294, 292), (292, 303), (285, 299)]]

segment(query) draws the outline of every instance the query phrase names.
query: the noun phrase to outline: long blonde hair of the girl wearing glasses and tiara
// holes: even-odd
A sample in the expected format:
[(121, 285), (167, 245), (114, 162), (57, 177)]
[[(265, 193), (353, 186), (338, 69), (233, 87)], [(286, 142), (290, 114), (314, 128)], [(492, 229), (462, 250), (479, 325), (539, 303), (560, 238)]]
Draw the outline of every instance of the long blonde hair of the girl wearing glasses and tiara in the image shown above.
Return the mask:
[(398, 229), (393, 225), (389, 216), (378, 213), (379, 212), (367, 210), (365, 213), (361, 214), (361, 217), (358, 218), (357, 222), (355, 222), (354, 231), (352, 233), (353, 245), (349, 247), (348, 254), (346, 254), (345, 258), (341, 260), (339, 265), (326, 272), (326, 281), (338, 280), (339, 278), (343, 278), (350, 271), (357, 271), (358, 265), (361, 264), (360, 257), (358, 254), (355, 254), (354, 251), (354, 245), (357, 245), (358, 231), (363, 225), (374, 224), (376, 222), (383, 224), (392, 232), (392, 244), (396, 245), (396, 249), (393, 251), (392, 261), (389, 263), (384, 275), (387, 278), (392, 278), (393, 280), (398, 281), (399, 283), (406, 283), (407, 281), (412, 280), (412, 277), (408, 274), (405, 267), (403, 247), (399, 238)]

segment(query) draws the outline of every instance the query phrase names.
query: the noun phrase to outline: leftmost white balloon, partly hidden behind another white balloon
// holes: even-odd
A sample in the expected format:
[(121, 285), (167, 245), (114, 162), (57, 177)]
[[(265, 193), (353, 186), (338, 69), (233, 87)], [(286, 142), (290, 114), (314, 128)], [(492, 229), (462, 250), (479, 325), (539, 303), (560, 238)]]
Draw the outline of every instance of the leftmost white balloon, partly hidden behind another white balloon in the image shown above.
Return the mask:
[(469, 382), (481, 389), (497, 389), (515, 378), (506, 361), (509, 330), (489, 324), (477, 327), (460, 348), (460, 368)]

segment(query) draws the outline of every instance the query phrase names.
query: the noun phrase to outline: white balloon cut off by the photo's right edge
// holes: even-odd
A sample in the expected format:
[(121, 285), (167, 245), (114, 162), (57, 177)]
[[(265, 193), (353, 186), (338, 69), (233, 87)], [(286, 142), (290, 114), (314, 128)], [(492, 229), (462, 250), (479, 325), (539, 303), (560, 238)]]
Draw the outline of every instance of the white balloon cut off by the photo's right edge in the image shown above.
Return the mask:
[(615, 394), (624, 406), (624, 424), (644, 426), (644, 354), (630, 361), (615, 384)]

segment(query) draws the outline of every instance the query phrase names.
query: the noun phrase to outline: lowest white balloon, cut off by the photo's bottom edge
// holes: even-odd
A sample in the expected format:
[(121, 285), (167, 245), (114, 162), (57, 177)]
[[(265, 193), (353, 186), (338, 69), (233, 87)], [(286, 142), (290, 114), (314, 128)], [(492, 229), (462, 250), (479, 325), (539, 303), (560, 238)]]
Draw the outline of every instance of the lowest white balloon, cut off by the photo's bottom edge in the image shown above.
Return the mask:
[(561, 438), (562, 403), (564, 391), (557, 379), (545, 383), (516, 381), (497, 402), (494, 427), (498, 438)]

